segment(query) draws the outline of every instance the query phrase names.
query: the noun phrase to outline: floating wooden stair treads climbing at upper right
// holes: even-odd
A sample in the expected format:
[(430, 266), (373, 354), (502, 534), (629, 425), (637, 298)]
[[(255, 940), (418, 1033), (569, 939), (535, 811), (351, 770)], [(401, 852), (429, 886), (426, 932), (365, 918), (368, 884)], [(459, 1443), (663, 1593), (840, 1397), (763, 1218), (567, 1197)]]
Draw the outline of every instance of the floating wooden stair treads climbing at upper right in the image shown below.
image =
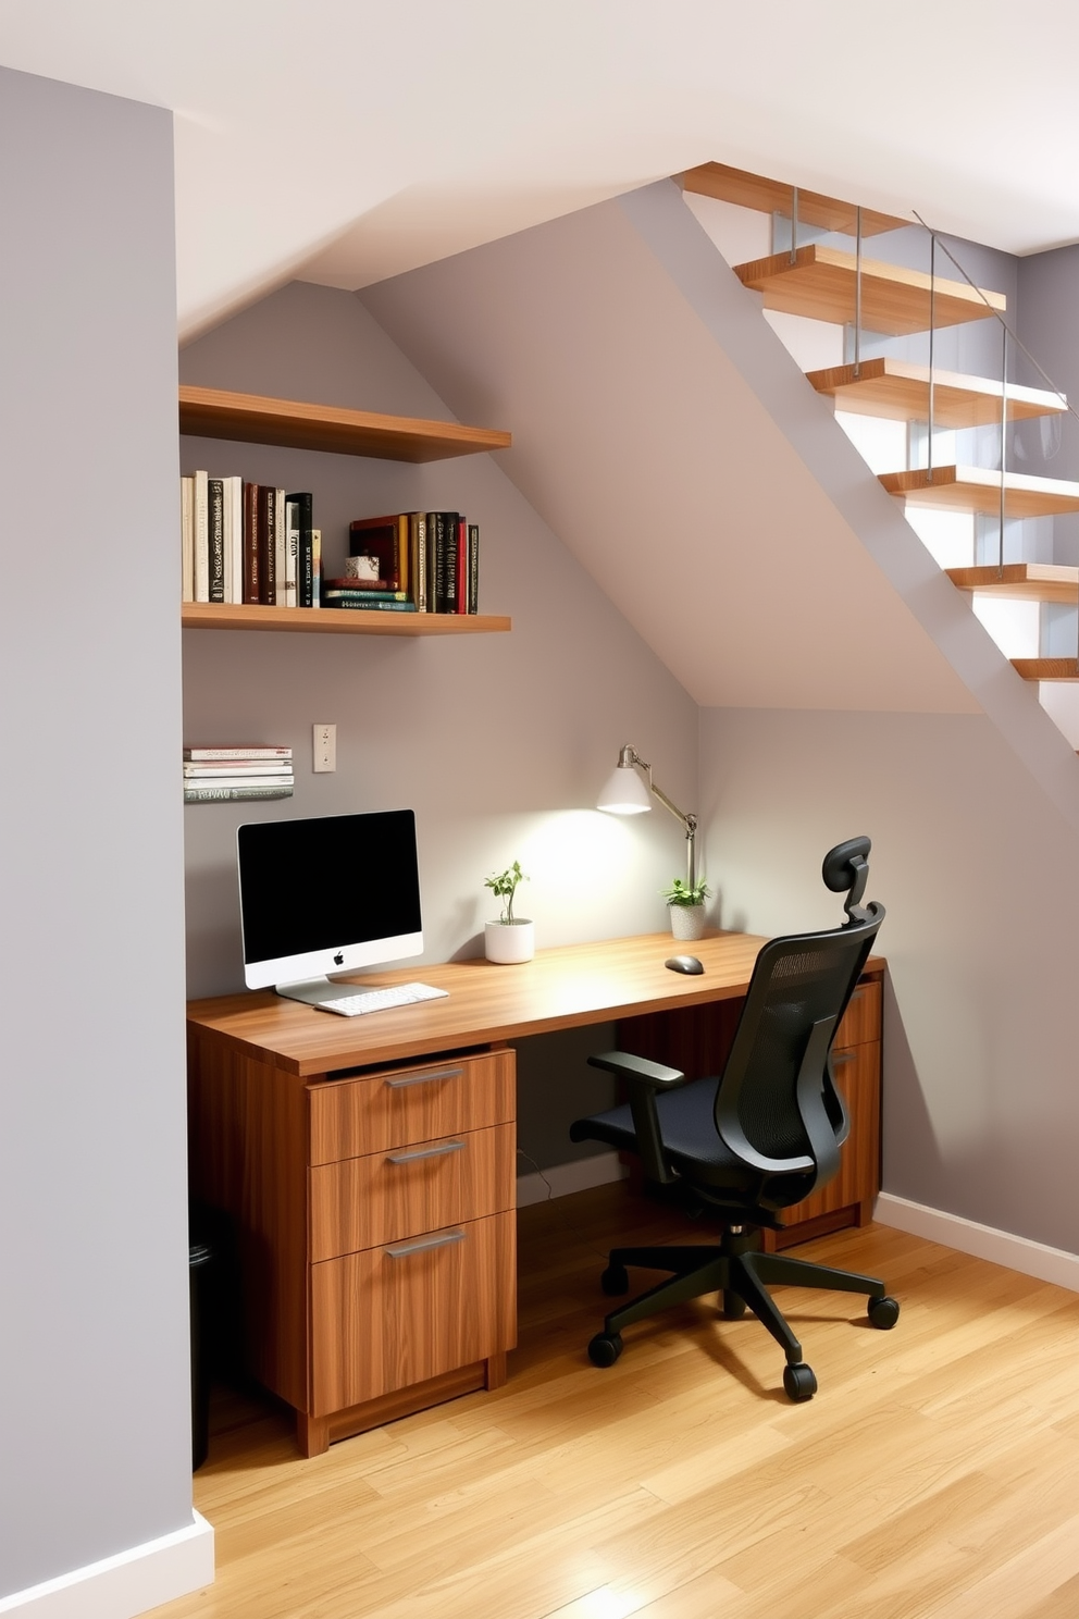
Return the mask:
[[(791, 236), (799, 223), (841, 235), (875, 236), (899, 230), (911, 220), (857, 209), (815, 191), (749, 175), (725, 164), (702, 164), (679, 176), (684, 191), (717, 198), (739, 207), (791, 217)], [(867, 259), (820, 243), (772, 253), (734, 264), (744, 287), (762, 295), (764, 308), (804, 316), (833, 325), (859, 322), (861, 329), (909, 337), (1006, 312), (1006, 298), (967, 282), (932, 278), (920, 270)], [(861, 285), (859, 285), (861, 283)], [(849, 414), (898, 423), (929, 423), (933, 429), (1000, 427), (1061, 416), (1063, 393), (1003, 384), (990, 377), (933, 369), (891, 356), (872, 356), (854, 364), (810, 371), (812, 387)], [(930, 408), (932, 402), (932, 408)], [(980, 466), (933, 466), (882, 473), (882, 486), (908, 507), (930, 507), (992, 518), (1032, 518), (1079, 512), (1079, 482)], [(1055, 563), (1001, 563), (945, 570), (951, 583), (971, 596), (1051, 606), (1079, 606), (1079, 568)], [(1079, 657), (1013, 657), (1024, 680), (1079, 682)]]

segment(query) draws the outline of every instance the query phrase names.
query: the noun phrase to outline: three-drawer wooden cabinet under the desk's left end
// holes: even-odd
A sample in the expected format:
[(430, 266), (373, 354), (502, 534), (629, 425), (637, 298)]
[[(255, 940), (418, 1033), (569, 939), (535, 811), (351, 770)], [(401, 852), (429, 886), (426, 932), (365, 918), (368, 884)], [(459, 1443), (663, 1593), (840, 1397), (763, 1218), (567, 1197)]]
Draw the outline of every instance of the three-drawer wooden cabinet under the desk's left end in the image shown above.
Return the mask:
[(189, 1072), (193, 1188), (233, 1222), (246, 1362), (304, 1454), (505, 1379), (511, 1051), (301, 1078), (193, 1028)]

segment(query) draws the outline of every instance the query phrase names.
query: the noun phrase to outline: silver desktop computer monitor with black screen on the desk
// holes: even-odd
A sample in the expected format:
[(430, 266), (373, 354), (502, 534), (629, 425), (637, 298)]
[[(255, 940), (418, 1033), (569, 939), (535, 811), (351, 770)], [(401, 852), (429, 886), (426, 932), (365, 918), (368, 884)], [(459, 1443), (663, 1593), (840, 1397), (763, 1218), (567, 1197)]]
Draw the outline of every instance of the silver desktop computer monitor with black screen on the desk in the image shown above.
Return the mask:
[(411, 810), (241, 826), (236, 858), (249, 989), (320, 1001), (327, 975), (424, 949)]

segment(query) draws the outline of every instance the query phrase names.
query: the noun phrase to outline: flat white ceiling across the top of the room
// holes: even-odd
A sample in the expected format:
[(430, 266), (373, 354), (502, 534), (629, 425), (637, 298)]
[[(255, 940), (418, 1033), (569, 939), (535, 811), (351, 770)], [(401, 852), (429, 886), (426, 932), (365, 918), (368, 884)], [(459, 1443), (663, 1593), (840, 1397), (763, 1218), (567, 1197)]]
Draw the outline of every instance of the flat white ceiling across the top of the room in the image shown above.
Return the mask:
[(176, 113), (191, 335), (709, 159), (1079, 240), (1074, 0), (0, 0), (0, 63)]

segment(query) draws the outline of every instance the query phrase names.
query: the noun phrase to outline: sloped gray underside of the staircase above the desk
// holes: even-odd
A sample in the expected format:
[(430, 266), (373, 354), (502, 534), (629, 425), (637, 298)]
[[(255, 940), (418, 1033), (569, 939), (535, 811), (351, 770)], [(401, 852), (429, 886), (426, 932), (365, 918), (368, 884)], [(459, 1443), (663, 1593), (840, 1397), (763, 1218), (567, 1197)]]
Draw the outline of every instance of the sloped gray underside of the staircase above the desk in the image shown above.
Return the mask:
[(925, 559), (920, 542), (676, 188), (639, 198), (683, 233), (713, 314), (778, 368), (817, 434), (814, 471), (624, 202), (359, 296), (455, 413), (513, 431), (508, 476), (697, 703), (977, 709), (822, 486), (820, 457), (883, 541)]

